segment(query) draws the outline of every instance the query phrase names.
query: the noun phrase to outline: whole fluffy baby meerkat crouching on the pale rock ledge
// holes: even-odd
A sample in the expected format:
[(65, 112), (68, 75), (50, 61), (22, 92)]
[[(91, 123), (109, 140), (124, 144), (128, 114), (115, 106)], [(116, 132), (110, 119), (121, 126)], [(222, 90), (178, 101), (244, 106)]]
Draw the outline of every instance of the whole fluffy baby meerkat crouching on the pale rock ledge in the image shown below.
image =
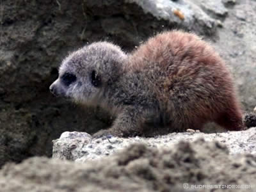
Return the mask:
[(244, 127), (225, 62), (207, 42), (183, 31), (159, 33), (129, 54), (109, 42), (86, 45), (63, 60), (50, 90), (116, 116), (94, 136), (143, 135), (148, 125), (160, 124), (172, 132), (207, 122), (229, 131)]

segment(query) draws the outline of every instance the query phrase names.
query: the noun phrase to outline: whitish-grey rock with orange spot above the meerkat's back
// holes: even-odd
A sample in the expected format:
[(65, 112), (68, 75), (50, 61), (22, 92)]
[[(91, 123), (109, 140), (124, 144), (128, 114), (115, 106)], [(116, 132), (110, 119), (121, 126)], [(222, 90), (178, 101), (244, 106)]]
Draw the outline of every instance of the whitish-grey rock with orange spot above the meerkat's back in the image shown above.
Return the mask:
[[(198, 34), (212, 35), (216, 31), (215, 20), (193, 1), (127, 0), (126, 2), (136, 3), (145, 13), (152, 14), (159, 20), (166, 20), (171, 25), (183, 26), (185, 29), (196, 31)], [(216, 6), (216, 4), (213, 5)], [(184, 19), (175, 14), (177, 11), (184, 16)]]

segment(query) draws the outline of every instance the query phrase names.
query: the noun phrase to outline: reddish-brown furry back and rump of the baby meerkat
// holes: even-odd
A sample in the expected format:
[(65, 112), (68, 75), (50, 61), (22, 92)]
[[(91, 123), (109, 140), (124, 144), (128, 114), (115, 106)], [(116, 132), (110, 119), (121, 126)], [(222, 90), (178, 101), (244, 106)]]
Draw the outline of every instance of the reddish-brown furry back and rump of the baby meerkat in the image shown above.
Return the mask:
[[(200, 129), (216, 122), (243, 129), (234, 81), (211, 45), (182, 31), (160, 33), (131, 56), (134, 70), (144, 70), (172, 130)], [(167, 114), (167, 115), (166, 115)]]

